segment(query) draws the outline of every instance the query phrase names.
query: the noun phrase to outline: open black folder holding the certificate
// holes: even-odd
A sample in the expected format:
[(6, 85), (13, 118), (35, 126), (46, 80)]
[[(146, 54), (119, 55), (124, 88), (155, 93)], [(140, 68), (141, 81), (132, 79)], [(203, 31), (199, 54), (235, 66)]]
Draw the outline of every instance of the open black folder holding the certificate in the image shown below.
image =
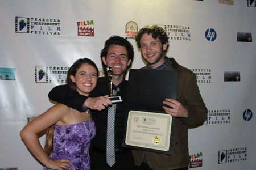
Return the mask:
[[(143, 70), (131, 69), (129, 72), (129, 88), (127, 92), (128, 111), (146, 111), (154, 113), (165, 113), (163, 101), (166, 98), (176, 99), (177, 71), (173, 70)], [(127, 120), (123, 135), (123, 147), (137, 150), (158, 152), (161, 154), (172, 154), (173, 139), (170, 138), (168, 151), (160, 151), (151, 148), (126, 145)], [(175, 118), (172, 118), (171, 136), (174, 133)]]

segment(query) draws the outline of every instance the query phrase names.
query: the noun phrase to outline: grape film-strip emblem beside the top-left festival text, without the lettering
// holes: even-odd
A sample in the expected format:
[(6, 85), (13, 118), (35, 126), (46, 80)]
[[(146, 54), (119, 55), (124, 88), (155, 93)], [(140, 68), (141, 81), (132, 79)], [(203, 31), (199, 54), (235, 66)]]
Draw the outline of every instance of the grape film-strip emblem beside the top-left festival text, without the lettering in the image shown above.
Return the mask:
[[(25, 29), (23, 30), (23, 28), (25, 28)], [(15, 17), (15, 32), (16, 33), (29, 33), (30, 32), (30, 19), (16, 16)]]

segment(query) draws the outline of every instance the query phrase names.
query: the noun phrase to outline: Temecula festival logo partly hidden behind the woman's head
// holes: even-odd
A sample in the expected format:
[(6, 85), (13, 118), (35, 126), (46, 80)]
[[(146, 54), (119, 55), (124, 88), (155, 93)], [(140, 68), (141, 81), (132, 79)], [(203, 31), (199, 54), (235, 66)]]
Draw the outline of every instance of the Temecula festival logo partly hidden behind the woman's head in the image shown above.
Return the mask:
[(69, 67), (35, 67), (35, 83), (65, 84)]

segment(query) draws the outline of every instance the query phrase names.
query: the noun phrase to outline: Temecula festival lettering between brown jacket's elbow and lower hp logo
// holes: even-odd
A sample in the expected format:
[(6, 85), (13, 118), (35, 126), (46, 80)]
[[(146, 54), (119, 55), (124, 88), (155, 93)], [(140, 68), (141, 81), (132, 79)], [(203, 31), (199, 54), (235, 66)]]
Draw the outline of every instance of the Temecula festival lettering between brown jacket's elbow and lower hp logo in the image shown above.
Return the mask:
[(204, 124), (230, 124), (230, 109), (208, 110), (207, 120)]

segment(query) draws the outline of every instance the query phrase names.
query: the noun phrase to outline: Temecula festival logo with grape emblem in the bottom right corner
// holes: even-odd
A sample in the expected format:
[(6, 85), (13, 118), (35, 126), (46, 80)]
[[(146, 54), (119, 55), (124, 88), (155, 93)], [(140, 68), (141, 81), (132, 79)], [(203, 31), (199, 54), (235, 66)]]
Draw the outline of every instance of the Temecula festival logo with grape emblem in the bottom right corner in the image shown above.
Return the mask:
[(239, 147), (218, 151), (218, 164), (241, 162), (247, 160), (247, 148)]

